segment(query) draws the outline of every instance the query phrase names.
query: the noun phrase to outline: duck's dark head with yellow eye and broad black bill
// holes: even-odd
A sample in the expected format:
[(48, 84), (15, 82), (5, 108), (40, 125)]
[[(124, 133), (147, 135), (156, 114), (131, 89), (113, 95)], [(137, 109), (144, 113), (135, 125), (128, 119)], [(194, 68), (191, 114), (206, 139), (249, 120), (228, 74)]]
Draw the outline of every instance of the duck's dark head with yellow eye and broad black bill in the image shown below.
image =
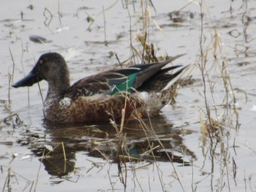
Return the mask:
[(41, 80), (46, 80), (49, 85), (57, 87), (61, 85), (69, 86), (67, 63), (59, 53), (45, 53), (41, 55), (31, 72), (22, 80), (14, 83), (12, 87), (31, 86)]

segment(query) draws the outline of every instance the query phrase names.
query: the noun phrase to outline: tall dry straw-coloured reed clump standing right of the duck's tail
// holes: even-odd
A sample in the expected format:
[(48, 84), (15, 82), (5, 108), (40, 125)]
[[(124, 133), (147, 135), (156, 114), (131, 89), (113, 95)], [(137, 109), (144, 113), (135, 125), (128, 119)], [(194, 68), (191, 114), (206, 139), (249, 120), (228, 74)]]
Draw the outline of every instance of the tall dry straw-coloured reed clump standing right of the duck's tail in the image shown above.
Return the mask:
[[(233, 104), (232, 106), (232, 110), (233, 112), (231, 114), (229, 114), (229, 108), (228, 106), (230, 106), (229, 104), (229, 96), (230, 96), (230, 92), (232, 94), (232, 99), (233, 102), (236, 102), (236, 96), (233, 90), (233, 86), (232, 83), (230, 81), (230, 77), (229, 74), (227, 72), (227, 64), (225, 61), (225, 56), (222, 53), (222, 38), (220, 36), (220, 34), (217, 31), (217, 28), (214, 27), (214, 35), (211, 34), (211, 42), (209, 45), (206, 46), (206, 48), (203, 47), (203, 44), (205, 42), (203, 42), (203, 34), (204, 34), (204, 26), (203, 23), (206, 23), (207, 26), (209, 26), (208, 20), (206, 18), (206, 15), (203, 13), (203, 11), (206, 9), (206, 11), (208, 12), (208, 15), (211, 15), (210, 12), (208, 11), (208, 7), (206, 5), (205, 1), (200, 1), (200, 13), (201, 13), (201, 31), (200, 31), (200, 64), (199, 69), (201, 72), (201, 76), (202, 76), (202, 80), (203, 80), (203, 98), (205, 101), (205, 108), (206, 108), (206, 121), (203, 122), (201, 115), (200, 115), (200, 127), (201, 127), (201, 131), (202, 131), (202, 142), (203, 142), (203, 149), (206, 146), (206, 139), (210, 139), (210, 148), (208, 153), (210, 153), (210, 158), (211, 158), (211, 173), (214, 172), (214, 158), (215, 158), (215, 153), (216, 153), (216, 149), (217, 149), (217, 143), (219, 142), (220, 145), (220, 149), (221, 149), (221, 153), (220, 153), (220, 158), (222, 158), (222, 161), (225, 162), (225, 167), (221, 167), (222, 170), (225, 170), (225, 177), (227, 177), (226, 183), (227, 183), (227, 188), (228, 191), (230, 191), (230, 173), (229, 173), (229, 169), (228, 169), (228, 161), (229, 161), (229, 153), (227, 151), (228, 146), (228, 142), (225, 142), (225, 140), (223, 139), (223, 137), (225, 136), (225, 134), (228, 134), (228, 131), (225, 130), (225, 122), (227, 121), (227, 118), (232, 118), (232, 114), (236, 115), (236, 125), (238, 125), (238, 111), (236, 109), (236, 105)], [(205, 21), (206, 20), (206, 21)], [(204, 22), (203, 22), (204, 21)], [(211, 23), (214, 23), (212, 21), (211, 18)], [(210, 33), (211, 33), (211, 28), (209, 29)], [(214, 58), (214, 62), (213, 65), (211, 66), (211, 69), (206, 69), (206, 63), (208, 61), (208, 52), (209, 52), (209, 48), (213, 48), (213, 58)], [(218, 55), (220, 55), (221, 58), (221, 62), (219, 62), (218, 59)], [(215, 104), (214, 101), (214, 85), (211, 85), (211, 80), (210, 80), (210, 74), (211, 74), (211, 70), (214, 69), (219, 69), (219, 73), (222, 77), (222, 84), (223, 84), (223, 88), (225, 90), (225, 97), (223, 99), (223, 103), (225, 103), (225, 108), (223, 108), (224, 112), (226, 113), (225, 118), (223, 117), (222, 120), (224, 121), (224, 123), (220, 123), (220, 121), (218, 120), (218, 116), (219, 116), (219, 112), (217, 110), (217, 104)], [(207, 86), (207, 84), (209, 86)], [(208, 99), (208, 91), (210, 91), (211, 94), (211, 101), (213, 101), (213, 104), (211, 105), (214, 108), (214, 112), (216, 115), (216, 119), (214, 119), (211, 115), (211, 110), (210, 110), (210, 104), (211, 102), (209, 102), (210, 99)], [(237, 131), (237, 126), (236, 126), (236, 131)], [(234, 172), (234, 171), (233, 171)], [(224, 175), (221, 174), (220, 175), (221, 180), (223, 180)], [(212, 176), (211, 176), (211, 180), (213, 180)], [(213, 188), (213, 186), (211, 186), (211, 188)]]

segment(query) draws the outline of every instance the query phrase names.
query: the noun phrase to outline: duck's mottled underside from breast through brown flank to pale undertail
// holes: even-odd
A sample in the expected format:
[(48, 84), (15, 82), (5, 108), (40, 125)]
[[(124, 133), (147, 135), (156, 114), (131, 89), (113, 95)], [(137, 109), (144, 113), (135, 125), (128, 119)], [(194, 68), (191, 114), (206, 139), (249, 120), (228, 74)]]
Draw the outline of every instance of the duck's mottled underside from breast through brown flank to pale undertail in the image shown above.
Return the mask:
[(68, 107), (54, 101), (45, 110), (45, 118), (59, 123), (108, 121), (110, 118), (120, 119), (124, 107), (125, 118), (136, 118), (138, 113), (146, 117), (155, 116), (159, 115), (162, 107), (170, 103), (175, 93), (176, 89), (173, 88), (162, 93), (151, 93), (148, 103), (138, 96), (129, 98), (121, 93), (116, 96), (105, 96), (104, 99), (80, 96), (72, 100)]

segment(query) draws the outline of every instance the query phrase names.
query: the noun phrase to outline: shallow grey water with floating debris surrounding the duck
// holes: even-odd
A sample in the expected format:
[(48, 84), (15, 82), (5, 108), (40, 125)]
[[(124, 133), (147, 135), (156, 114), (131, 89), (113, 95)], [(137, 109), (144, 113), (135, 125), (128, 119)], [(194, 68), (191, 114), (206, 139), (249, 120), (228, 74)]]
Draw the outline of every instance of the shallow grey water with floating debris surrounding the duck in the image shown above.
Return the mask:
[[(210, 79), (206, 94), (212, 118), (222, 123), (211, 139), (200, 129), (206, 109), (202, 76), (194, 65), (200, 64), (200, 6), (188, 1), (152, 2), (149, 42), (159, 48), (158, 55), (187, 53), (173, 63), (190, 64), (189, 75), (195, 81), (180, 88), (176, 104), (165, 107), (159, 118), (145, 120), (155, 134), (138, 122), (125, 125), (127, 152), (120, 150), (122, 139), (108, 123), (58, 126), (45, 122), (37, 85), (14, 89), (10, 83), (49, 51), (67, 59), (72, 82), (113, 68), (118, 64), (115, 54), (125, 61), (132, 54), (131, 42), (141, 50), (136, 34), (143, 28), (145, 4), (1, 1), (1, 191), (255, 191), (256, 2), (203, 4), (203, 51)], [(178, 14), (170, 14), (177, 10)], [(215, 34), (219, 37), (216, 50), (211, 41)], [(230, 86), (225, 91), (219, 69), (222, 61), (236, 100)], [(42, 82), (40, 87), (45, 96), (47, 84)], [(10, 115), (14, 116), (7, 118)], [(154, 156), (147, 153), (148, 138), (156, 147)], [(165, 150), (158, 150), (159, 141)], [(127, 164), (120, 169), (117, 157), (128, 153), (136, 160), (123, 159)]]

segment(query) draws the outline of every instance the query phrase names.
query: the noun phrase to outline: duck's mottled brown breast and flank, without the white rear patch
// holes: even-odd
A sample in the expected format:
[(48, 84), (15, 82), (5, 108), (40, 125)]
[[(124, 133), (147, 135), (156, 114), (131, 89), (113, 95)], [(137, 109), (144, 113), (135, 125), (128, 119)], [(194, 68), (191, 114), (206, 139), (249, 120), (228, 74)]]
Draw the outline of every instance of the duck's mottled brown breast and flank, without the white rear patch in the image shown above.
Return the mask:
[(125, 118), (129, 118), (135, 109), (138, 112), (146, 112), (143, 101), (138, 98), (135, 99), (135, 97), (128, 98), (118, 94), (114, 97), (106, 96), (105, 99), (91, 99), (90, 97), (80, 96), (73, 100), (68, 107), (61, 106), (59, 102), (53, 101), (45, 108), (45, 118), (59, 123), (107, 121), (110, 118), (120, 119), (125, 102), (127, 102)]

